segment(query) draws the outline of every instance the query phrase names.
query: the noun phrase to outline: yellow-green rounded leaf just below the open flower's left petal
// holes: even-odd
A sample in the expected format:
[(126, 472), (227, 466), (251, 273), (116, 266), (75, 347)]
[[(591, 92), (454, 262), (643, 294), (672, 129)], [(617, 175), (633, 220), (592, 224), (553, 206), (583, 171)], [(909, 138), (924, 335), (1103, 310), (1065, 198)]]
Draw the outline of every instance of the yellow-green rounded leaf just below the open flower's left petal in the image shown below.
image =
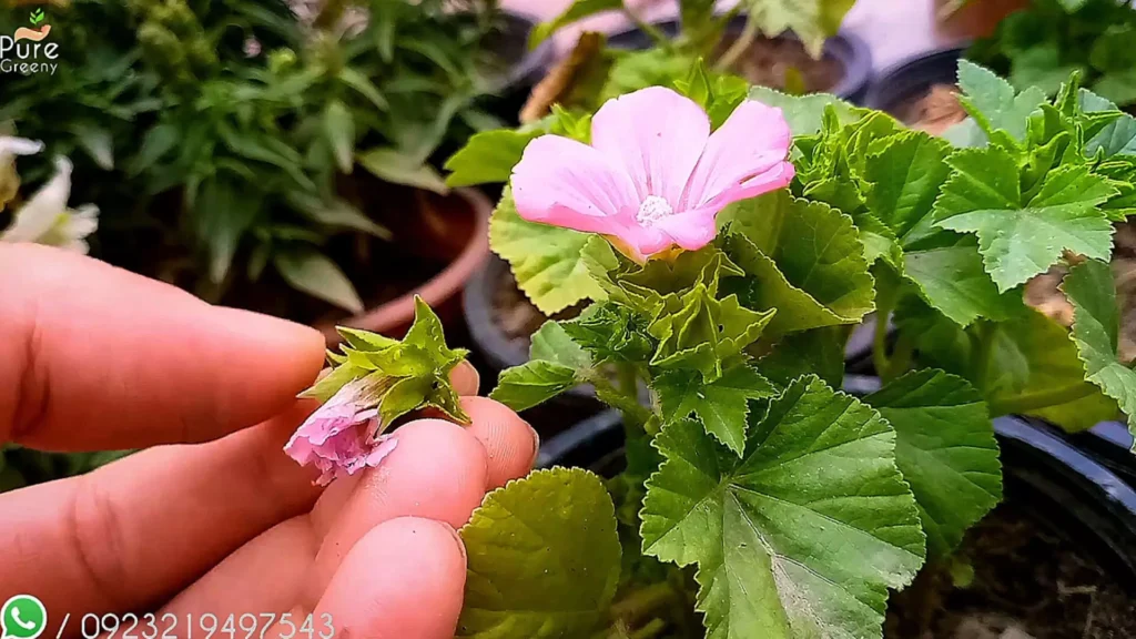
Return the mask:
[(585, 264), (593, 236), (521, 219), (508, 189), (490, 219), (490, 247), (509, 262), (517, 285), (545, 315), (603, 296)]

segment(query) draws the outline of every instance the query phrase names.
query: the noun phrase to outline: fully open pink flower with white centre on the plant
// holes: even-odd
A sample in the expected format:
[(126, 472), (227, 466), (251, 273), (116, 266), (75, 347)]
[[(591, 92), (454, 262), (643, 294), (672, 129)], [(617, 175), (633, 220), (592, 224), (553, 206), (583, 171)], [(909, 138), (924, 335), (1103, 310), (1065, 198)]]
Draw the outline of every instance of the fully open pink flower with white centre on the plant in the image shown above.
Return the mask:
[(529, 142), (512, 194), (525, 219), (613, 235), (640, 260), (673, 244), (696, 250), (727, 205), (793, 180), (791, 140), (780, 109), (746, 100), (711, 134), (694, 101), (651, 86), (604, 103), (591, 147)]

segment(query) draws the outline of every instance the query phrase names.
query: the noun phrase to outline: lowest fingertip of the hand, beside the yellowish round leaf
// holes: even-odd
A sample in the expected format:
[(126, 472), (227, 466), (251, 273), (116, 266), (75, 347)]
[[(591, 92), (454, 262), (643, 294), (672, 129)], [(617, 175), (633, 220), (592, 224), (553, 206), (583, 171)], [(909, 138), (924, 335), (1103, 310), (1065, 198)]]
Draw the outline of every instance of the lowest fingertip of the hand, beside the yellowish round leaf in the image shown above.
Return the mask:
[(400, 517), (356, 542), (315, 619), (331, 620), (336, 637), (452, 639), (465, 586), (466, 551), (457, 532)]

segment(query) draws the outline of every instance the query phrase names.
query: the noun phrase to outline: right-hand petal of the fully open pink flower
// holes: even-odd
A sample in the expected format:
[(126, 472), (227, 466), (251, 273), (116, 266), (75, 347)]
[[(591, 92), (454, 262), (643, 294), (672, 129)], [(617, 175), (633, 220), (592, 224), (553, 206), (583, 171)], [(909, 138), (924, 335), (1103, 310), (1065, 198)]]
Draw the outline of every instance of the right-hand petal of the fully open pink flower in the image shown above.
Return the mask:
[(678, 208), (721, 208), (788, 184), (793, 165), (785, 158), (792, 140), (780, 109), (742, 102), (710, 136)]

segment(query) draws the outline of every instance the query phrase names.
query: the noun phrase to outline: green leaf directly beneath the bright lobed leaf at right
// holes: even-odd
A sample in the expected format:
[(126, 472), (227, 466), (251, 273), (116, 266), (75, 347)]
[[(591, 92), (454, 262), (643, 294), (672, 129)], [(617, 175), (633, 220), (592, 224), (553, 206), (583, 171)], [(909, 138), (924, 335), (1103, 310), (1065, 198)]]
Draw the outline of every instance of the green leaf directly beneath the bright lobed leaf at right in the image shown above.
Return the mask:
[(903, 274), (928, 304), (960, 326), (978, 318), (1001, 322), (1022, 308), (1021, 291), (999, 292), (972, 244), (908, 252)]

